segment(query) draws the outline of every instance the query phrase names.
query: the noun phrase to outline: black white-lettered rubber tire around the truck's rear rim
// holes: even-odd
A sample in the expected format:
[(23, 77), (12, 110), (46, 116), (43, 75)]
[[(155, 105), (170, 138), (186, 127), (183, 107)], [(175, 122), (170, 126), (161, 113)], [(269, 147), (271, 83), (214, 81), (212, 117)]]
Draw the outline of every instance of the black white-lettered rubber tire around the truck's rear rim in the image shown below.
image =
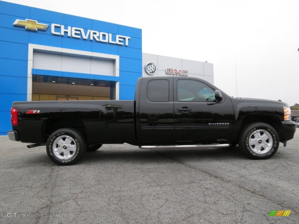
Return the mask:
[[(69, 159), (60, 159), (53, 152), (53, 144), (54, 144), (55, 139), (57, 139), (58, 137), (60, 137), (62, 135), (70, 136), (71, 138), (73, 138), (74, 142), (77, 146), (77, 150), (76, 150), (74, 156), (72, 156)], [(53, 162), (55, 162), (56, 164), (59, 164), (59, 165), (71, 165), (71, 164), (78, 162), (78, 160), (81, 159), (81, 157), (85, 153), (86, 145), (84, 144), (80, 134), (78, 134), (76, 131), (74, 131), (72, 129), (59, 129), (59, 130), (55, 131), (53, 134), (51, 134), (51, 136), (49, 137), (49, 139), (47, 141), (46, 148), (47, 148), (48, 156), (50, 157), (50, 159)]]

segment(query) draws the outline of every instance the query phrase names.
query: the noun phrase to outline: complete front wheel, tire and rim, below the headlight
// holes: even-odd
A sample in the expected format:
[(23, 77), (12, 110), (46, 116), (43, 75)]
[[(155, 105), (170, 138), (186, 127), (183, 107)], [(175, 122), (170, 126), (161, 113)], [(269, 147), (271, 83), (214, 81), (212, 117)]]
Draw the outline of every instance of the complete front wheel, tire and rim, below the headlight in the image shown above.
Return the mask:
[(276, 153), (278, 146), (277, 131), (263, 122), (248, 124), (239, 137), (239, 147), (251, 159), (268, 159)]

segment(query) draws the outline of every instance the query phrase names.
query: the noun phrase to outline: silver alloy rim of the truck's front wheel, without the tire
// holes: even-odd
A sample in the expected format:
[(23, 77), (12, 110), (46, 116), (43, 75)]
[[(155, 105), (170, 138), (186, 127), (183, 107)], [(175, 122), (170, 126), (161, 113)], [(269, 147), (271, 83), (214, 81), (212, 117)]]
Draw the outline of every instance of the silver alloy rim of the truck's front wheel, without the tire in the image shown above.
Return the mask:
[(264, 154), (271, 150), (273, 138), (268, 131), (259, 129), (251, 133), (248, 144), (255, 153)]

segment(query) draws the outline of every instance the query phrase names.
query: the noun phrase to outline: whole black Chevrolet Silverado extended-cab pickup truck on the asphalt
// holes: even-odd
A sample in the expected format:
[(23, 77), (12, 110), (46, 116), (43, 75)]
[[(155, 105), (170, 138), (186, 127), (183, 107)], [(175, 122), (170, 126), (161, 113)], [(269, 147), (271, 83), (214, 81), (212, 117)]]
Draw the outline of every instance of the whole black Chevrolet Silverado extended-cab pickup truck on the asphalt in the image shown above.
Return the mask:
[(124, 142), (147, 149), (239, 145), (246, 156), (267, 159), (296, 130), (286, 103), (233, 98), (181, 76), (139, 78), (135, 100), (13, 102), (11, 123), (10, 140), (46, 145), (59, 165)]

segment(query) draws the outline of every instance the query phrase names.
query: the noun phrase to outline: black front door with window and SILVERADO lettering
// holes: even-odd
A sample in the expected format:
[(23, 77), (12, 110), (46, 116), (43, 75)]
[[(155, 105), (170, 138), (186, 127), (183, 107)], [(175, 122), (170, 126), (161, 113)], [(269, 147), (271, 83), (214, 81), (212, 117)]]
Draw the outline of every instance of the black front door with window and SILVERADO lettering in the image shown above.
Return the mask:
[(231, 139), (234, 111), (223, 94), (216, 102), (215, 87), (203, 80), (174, 78), (175, 139), (189, 143), (221, 143)]

